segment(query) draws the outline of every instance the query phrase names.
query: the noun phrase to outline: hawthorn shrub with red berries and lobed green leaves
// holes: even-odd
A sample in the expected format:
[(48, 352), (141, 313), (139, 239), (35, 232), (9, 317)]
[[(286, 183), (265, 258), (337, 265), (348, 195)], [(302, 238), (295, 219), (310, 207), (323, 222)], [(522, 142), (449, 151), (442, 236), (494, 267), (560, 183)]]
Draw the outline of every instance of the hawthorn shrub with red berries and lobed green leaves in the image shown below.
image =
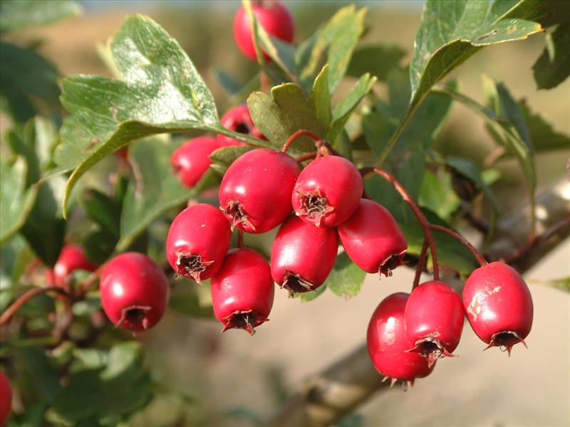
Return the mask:
[[(379, 302), (363, 331), (393, 383), (437, 375), (438, 359), (472, 333), (465, 317), (488, 347), (526, 346), (527, 284), (454, 226), (483, 205), (492, 236), (502, 215), (494, 168), (514, 159), (536, 239), (535, 156), (570, 139), (505, 83), (484, 77), (480, 103), (447, 75), (482, 48), (546, 31), (533, 70), (538, 88), (554, 88), (570, 70), (564, 2), (428, 0), (404, 63), (398, 48), (360, 43), (374, 25), (364, 8), (343, 6), (299, 40), (288, 4), (244, 1), (234, 38), (258, 68), (253, 88), (223, 74), (237, 102), (221, 119), (192, 60), (147, 16), (128, 16), (103, 52), (115, 78), (58, 80), (10, 38), (78, 13), (72, 1), (1, 4), (11, 127), (1, 142), (0, 423), (128, 425), (157, 396), (189, 404), (143, 364), (139, 337), (165, 310), (254, 334), (271, 328), (276, 292), (355, 296), (366, 273), (384, 286), (403, 264), (417, 269), (410, 294)], [(484, 167), (432, 146), (457, 103), (502, 149)], [(250, 247), (271, 230), (271, 253)], [(425, 269), (434, 280), (420, 284)], [(462, 295), (442, 270), (467, 279)], [(198, 287), (210, 288), (209, 304)]]

